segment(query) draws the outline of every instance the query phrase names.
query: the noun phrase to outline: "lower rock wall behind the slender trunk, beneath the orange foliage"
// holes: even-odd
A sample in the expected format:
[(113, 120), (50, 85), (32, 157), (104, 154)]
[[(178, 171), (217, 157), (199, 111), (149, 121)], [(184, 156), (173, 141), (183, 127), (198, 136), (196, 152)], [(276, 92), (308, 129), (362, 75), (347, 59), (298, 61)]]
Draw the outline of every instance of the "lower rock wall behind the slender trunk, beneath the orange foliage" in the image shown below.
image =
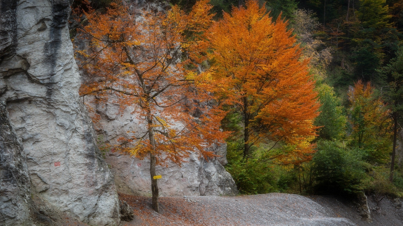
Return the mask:
[[(109, 154), (118, 191), (132, 195), (151, 196), (150, 160), (139, 160), (122, 154)], [(206, 161), (195, 154), (178, 166), (157, 166), (160, 196), (235, 195), (237, 188), (231, 175), (213, 159)]]

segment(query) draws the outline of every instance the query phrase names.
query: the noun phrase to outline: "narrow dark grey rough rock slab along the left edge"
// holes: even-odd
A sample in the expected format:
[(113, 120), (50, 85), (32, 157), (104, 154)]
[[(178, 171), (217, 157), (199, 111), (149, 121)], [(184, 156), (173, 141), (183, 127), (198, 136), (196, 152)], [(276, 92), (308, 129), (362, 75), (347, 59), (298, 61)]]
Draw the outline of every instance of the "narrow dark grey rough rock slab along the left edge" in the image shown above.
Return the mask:
[(27, 159), (7, 116), (0, 102), (0, 225), (24, 225), (32, 202)]

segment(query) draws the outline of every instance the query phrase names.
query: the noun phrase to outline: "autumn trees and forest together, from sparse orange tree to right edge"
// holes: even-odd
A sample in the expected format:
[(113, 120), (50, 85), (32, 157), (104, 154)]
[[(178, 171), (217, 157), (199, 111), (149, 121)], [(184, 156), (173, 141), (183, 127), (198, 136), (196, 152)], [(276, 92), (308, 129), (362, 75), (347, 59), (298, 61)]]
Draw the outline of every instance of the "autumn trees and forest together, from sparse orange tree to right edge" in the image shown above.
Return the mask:
[[(84, 103), (131, 111), (104, 151), (228, 164), (244, 194), (403, 196), (403, 1), (173, 0), (73, 7)], [(96, 110), (92, 119), (102, 127)], [(396, 164), (395, 164), (396, 162)]]

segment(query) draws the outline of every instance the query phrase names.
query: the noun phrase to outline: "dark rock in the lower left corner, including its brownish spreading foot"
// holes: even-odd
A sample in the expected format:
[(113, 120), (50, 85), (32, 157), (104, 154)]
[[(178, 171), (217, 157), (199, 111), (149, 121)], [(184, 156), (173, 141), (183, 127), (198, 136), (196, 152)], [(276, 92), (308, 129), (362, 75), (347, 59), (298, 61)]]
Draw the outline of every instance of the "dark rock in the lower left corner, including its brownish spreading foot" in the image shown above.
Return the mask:
[(21, 138), (0, 101), (0, 226), (56, 226), (61, 219), (58, 210), (34, 195), (29, 179)]

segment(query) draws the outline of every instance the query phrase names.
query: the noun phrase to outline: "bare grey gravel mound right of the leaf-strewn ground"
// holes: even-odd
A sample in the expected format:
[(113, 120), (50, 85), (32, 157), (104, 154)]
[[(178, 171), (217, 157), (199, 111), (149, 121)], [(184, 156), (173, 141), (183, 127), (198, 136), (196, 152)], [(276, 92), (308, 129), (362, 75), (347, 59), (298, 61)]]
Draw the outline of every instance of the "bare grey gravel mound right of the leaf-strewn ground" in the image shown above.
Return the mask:
[[(237, 223), (251, 226), (349, 226), (346, 218), (327, 217), (322, 206), (307, 197), (269, 193), (238, 197), (197, 197), (222, 218), (216, 225)], [(204, 219), (205, 220), (205, 219)]]

